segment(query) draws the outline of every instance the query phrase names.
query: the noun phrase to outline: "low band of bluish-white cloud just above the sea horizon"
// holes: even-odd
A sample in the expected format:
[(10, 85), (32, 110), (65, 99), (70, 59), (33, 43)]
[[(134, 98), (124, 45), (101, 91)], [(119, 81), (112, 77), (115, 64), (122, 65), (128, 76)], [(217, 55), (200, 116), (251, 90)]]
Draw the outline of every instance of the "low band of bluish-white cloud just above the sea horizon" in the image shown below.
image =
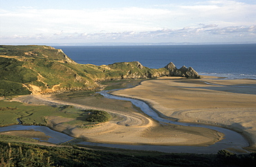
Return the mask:
[[(255, 41), (256, 26), (218, 26), (199, 25), (196, 28), (163, 29), (153, 31), (125, 31), (125, 32), (96, 32), (96, 33), (66, 33), (60, 35), (36, 35), (1, 37), (6, 41), (20, 40), (38, 42), (51, 41), (53, 43), (90, 43), (90, 42), (214, 42), (214, 41)], [(209, 40), (210, 39), (210, 40)], [(256, 42), (256, 41), (255, 41)]]

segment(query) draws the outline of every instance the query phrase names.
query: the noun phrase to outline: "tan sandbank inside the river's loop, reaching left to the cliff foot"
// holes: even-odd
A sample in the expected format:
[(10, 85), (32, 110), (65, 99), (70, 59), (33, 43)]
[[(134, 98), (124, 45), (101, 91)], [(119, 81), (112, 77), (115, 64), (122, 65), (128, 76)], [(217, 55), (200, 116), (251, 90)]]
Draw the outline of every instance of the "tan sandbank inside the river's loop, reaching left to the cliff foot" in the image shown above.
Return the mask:
[(80, 128), (67, 124), (71, 119), (47, 117), (47, 126), (84, 141), (106, 144), (160, 145), (160, 146), (209, 146), (223, 139), (216, 130), (199, 127), (163, 125), (147, 117), (129, 101), (98, 97), (57, 99), (51, 95), (29, 95), (15, 100), (31, 105), (73, 105), (82, 109), (110, 112), (113, 119), (93, 128)]

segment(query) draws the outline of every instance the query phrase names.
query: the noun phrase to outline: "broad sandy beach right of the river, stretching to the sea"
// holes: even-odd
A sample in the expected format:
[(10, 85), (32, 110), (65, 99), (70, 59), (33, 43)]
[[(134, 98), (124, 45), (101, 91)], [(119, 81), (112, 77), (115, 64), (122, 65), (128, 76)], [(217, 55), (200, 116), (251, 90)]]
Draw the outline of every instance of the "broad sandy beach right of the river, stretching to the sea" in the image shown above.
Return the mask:
[(185, 122), (212, 124), (241, 132), (256, 142), (256, 81), (165, 77), (143, 81), (139, 86), (113, 95), (147, 101), (162, 117)]

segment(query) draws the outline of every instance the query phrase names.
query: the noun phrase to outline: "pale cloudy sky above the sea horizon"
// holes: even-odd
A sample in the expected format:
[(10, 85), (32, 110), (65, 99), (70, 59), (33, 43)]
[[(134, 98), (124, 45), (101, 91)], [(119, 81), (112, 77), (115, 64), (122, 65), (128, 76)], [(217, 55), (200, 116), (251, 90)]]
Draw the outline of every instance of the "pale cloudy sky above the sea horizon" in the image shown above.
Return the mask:
[(255, 0), (0, 0), (0, 44), (256, 43)]

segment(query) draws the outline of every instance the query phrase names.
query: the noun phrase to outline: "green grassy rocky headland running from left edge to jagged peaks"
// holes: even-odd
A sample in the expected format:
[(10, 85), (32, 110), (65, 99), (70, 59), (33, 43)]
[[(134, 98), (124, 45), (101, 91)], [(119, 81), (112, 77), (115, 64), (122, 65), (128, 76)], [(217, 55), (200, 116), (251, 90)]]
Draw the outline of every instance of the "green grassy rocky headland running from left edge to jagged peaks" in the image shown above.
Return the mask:
[(197, 78), (192, 68), (173, 63), (152, 69), (138, 61), (95, 66), (75, 63), (50, 46), (0, 46), (0, 96), (95, 90), (98, 81), (162, 76)]

